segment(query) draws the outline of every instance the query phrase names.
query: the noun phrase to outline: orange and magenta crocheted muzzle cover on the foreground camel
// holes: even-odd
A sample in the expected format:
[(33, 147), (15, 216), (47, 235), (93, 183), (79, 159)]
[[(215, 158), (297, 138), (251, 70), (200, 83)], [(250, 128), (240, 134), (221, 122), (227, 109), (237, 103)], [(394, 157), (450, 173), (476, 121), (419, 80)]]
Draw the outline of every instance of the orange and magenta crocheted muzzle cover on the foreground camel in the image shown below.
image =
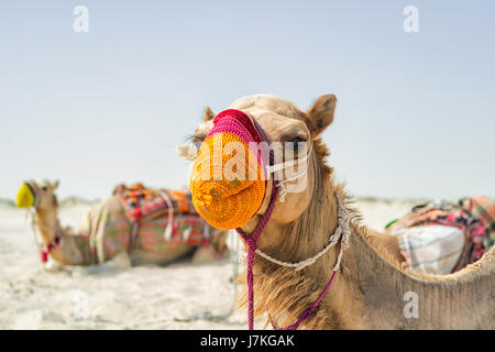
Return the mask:
[(267, 163), (262, 142), (253, 121), (242, 111), (224, 110), (213, 120), (190, 176), (193, 204), (211, 226), (240, 228), (260, 209)]

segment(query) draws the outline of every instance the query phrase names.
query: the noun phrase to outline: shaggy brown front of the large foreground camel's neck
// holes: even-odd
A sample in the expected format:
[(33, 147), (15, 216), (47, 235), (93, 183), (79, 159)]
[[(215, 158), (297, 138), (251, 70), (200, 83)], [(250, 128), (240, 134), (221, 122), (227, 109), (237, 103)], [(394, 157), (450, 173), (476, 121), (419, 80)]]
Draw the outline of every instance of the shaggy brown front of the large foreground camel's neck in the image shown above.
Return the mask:
[[(328, 245), (330, 237), (338, 227), (336, 190), (341, 199), (343, 199), (342, 193), (340, 187), (336, 188), (333, 185), (331, 175), (324, 175), (319, 169), (319, 163), (316, 157), (312, 160), (312, 163), (315, 166), (311, 173), (311, 201), (306, 210), (297, 220), (287, 224), (280, 226), (276, 222), (270, 222), (265, 233), (260, 239), (260, 249), (267, 255), (282, 262), (296, 263), (315, 256)], [(270, 242), (264, 241), (264, 239), (270, 239)], [(273, 304), (264, 307), (273, 316), (277, 326), (293, 323), (301, 314), (297, 309), (306, 309), (315, 302), (333, 274), (338, 249), (339, 245), (330, 248), (315, 263), (298, 272), (295, 272), (294, 268), (274, 265), (260, 256), (256, 257), (256, 275), (254, 277), (255, 286), (258, 287), (256, 292), (260, 294), (256, 294), (257, 297), (255, 298), (270, 295), (270, 292), (275, 289), (276, 286), (268, 285), (270, 282), (279, 285), (289, 275), (289, 282), (293, 283), (289, 287), (286, 287), (283, 295), (272, 301)], [(276, 280), (272, 279), (268, 282), (267, 277), (264, 277), (265, 273), (271, 273), (272, 277), (276, 277)], [(331, 292), (326, 296), (332, 295), (334, 286), (339, 283), (338, 276), (332, 284)], [(300, 295), (301, 287), (310, 287), (310, 294)], [(285, 296), (290, 296), (294, 302), (297, 301), (298, 308), (290, 311), (290, 319), (278, 320), (276, 316), (286, 308), (283, 300), (278, 302), (278, 298), (283, 299)], [(328, 298), (326, 297), (323, 300), (328, 300)], [(321, 301), (321, 304), (323, 302)]]

